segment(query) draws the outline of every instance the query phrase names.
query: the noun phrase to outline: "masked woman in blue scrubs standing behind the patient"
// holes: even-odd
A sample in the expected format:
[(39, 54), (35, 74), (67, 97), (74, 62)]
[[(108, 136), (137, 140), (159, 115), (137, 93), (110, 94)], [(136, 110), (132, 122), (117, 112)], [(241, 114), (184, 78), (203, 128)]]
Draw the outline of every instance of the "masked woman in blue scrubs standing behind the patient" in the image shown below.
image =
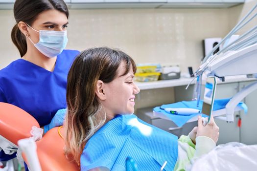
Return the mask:
[[(46, 132), (62, 125), (67, 75), (79, 53), (64, 50), (68, 7), (63, 0), (16, 0), (14, 17), (11, 37), (21, 58), (0, 70), (0, 102), (27, 111)], [(14, 157), (0, 151), (1, 161)]]

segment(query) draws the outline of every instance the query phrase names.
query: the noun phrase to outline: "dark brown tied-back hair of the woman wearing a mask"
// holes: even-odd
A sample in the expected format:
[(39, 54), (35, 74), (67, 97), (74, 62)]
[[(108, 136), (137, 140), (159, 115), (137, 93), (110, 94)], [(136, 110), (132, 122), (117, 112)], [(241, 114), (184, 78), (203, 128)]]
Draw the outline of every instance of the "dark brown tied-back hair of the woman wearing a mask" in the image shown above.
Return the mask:
[(16, 0), (14, 3), (14, 18), (16, 24), (14, 25), (11, 33), (12, 41), (18, 48), (21, 57), (27, 51), (26, 38), (18, 27), (20, 21), (26, 22), (29, 25), (36, 20), (37, 16), (46, 10), (56, 9), (63, 12), (67, 19), (69, 11), (66, 3), (63, 0)]

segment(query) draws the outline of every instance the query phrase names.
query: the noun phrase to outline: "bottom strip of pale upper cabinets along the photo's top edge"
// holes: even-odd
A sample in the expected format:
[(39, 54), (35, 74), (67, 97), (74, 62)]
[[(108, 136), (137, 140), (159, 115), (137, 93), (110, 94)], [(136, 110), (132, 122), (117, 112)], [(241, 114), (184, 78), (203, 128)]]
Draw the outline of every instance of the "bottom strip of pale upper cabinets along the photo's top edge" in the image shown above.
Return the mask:
[[(245, 0), (64, 0), (71, 9), (90, 8), (228, 8)], [(0, 9), (12, 9), (15, 0), (0, 0)]]

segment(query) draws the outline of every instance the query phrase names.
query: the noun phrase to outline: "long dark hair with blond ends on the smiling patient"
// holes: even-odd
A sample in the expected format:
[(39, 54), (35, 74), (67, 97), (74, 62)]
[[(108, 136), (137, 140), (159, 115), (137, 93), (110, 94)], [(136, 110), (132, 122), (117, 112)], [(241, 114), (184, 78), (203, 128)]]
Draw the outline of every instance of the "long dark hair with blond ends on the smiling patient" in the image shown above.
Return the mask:
[[(126, 53), (108, 47), (82, 51), (74, 60), (67, 83), (67, 114), (65, 118), (65, 152), (80, 164), (80, 155), (89, 138), (106, 121), (106, 113), (95, 94), (98, 80), (110, 83), (117, 77), (121, 62), (136, 73), (136, 64)], [(71, 155), (70, 155), (71, 154)]]

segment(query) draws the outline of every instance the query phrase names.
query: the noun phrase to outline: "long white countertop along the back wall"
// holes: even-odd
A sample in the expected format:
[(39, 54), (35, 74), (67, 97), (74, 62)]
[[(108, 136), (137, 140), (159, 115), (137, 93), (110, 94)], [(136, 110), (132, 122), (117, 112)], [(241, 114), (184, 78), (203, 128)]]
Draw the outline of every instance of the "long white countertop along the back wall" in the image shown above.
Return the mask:
[[(160, 80), (160, 81), (145, 82), (145, 83), (136, 82), (136, 85), (138, 85), (141, 90), (147, 90), (147, 89), (155, 89), (155, 88), (165, 88), (165, 87), (188, 85), (192, 81), (192, 79), (193, 78), (180, 78), (180, 79)], [(228, 77), (225, 77), (225, 82), (222, 82), (218, 79), (217, 84), (254, 81), (254, 80), (257, 80), (257, 79), (256, 78), (246, 78), (246, 75), (228, 76)], [(196, 79), (191, 84), (195, 84), (195, 83), (196, 83)]]

